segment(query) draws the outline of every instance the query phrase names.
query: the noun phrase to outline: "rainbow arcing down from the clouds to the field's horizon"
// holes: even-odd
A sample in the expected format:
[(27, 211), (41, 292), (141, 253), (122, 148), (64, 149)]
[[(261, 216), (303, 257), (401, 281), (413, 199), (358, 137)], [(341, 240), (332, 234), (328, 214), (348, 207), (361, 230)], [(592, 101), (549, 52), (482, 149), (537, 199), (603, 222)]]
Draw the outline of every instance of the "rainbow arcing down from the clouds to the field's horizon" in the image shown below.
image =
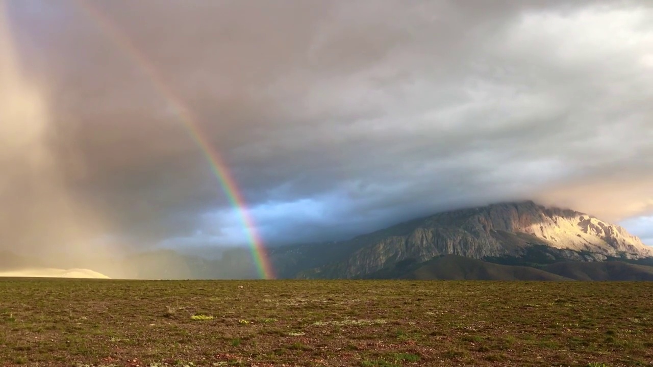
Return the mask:
[(190, 108), (186, 106), (183, 99), (175, 93), (172, 88), (170, 88), (168, 83), (161, 74), (157, 72), (156, 67), (148, 60), (146, 55), (140, 52), (133, 42), (131, 42), (131, 40), (122, 33), (110, 19), (93, 7), (93, 5), (89, 4), (88, 1), (78, 0), (77, 3), (86, 14), (97, 22), (97, 25), (101, 30), (103, 30), (104, 34), (110, 37), (116, 46), (135, 61), (136, 65), (138, 65), (140, 69), (147, 74), (148, 78), (150, 78), (153, 86), (157, 91), (159, 91), (161, 96), (165, 98), (172, 107), (174, 107), (188, 135), (198, 146), (204, 157), (206, 157), (206, 161), (211, 167), (212, 173), (220, 183), (220, 187), (229, 199), (230, 204), (238, 212), (238, 217), (244, 229), (246, 229), (247, 242), (259, 276), (264, 279), (274, 279), (274, 273), (270, 261), (268, 260), (263, 240), (257, 231), (253, 217), (247, 210), (246, 201), (244, 200), (242, 193), (240, 193), (238, 185), (231, 172), (229, 172), (229, 168), (225, 165), (217, 150), (213, 148), (211, 143), (206, 139), (206, 134), (202, 131), (199, 123), (197, 123), (198, 120), (196, 116), (194, 116)]

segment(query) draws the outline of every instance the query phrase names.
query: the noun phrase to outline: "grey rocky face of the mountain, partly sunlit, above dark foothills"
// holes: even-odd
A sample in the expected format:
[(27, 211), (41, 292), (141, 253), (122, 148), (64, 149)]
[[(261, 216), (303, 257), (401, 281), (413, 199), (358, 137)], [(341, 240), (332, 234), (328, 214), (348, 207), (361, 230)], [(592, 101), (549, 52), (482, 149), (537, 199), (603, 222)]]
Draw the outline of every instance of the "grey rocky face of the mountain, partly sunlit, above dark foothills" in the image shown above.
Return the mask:
[(438, 255), (519, 257), (538, 245), (580, 261), (653, 256), (651, 247), (622, 227), (526, 201), (445, 212), (359, 236), (349, 241), (353, 253), (300, 277), (353, 278), (406, 259), (422, 262)]

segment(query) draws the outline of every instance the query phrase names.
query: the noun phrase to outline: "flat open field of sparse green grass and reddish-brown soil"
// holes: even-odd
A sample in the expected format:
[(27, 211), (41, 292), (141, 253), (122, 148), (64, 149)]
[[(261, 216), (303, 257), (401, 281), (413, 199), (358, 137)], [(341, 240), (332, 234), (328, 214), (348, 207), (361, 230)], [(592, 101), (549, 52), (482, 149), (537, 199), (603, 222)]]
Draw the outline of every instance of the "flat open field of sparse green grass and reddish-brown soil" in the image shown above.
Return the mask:
[(650, 366), (652, 306), (643, 282), (7, 278), (0, 366)]

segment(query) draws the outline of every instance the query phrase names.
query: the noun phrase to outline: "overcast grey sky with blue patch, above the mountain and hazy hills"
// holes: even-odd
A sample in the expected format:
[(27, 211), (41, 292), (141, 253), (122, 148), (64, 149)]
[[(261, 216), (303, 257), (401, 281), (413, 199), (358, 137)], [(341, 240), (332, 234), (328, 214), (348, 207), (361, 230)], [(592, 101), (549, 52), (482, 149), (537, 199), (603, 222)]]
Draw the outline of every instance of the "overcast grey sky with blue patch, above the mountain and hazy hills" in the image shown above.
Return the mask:
[(0, 4), (5, 247), (246, 243), (198, 136), (269, 245), (522, 199), (653, 245), (650, 1)]

